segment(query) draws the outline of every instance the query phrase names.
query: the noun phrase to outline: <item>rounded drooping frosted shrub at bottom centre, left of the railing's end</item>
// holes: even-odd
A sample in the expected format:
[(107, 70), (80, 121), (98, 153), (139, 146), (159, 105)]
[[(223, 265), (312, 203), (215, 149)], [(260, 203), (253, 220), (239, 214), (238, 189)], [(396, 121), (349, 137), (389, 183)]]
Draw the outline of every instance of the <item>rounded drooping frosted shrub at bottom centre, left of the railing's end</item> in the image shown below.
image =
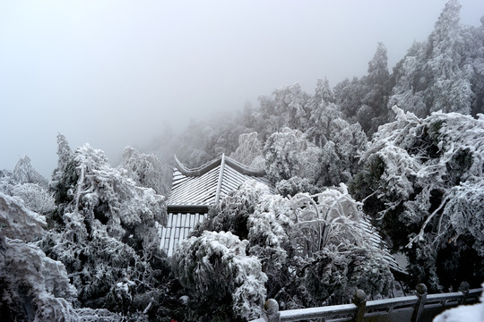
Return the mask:
[(180, 242), (172, 258), (173, 271), (199, 301), (216, 306), (230, 298), (236, 316), (257, 318), (267, 277), (260, 261), (246, 255), (247, 243), (232, 233), (203, 232)]

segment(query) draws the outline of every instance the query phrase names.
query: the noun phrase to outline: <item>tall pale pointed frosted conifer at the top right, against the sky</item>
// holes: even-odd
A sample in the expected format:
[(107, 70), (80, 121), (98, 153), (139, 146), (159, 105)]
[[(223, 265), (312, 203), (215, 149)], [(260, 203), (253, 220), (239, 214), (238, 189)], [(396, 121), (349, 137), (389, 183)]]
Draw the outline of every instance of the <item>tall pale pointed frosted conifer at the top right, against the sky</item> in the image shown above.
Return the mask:
[[(460, 9), (457, 0), (448, 1), (428, 41), (414, 44), (397, 64), (389, 106), (396, 104), (419, 117), (436, 111), (471, 114), (472, 90), (479, 90), (474, 72), (480, 69), (473, 62), (476, 51), (465, 45), (474, 40), (467, 40), (471, 36), (459, 22)], [(474, 59), (466, 59), (470, 53)]]

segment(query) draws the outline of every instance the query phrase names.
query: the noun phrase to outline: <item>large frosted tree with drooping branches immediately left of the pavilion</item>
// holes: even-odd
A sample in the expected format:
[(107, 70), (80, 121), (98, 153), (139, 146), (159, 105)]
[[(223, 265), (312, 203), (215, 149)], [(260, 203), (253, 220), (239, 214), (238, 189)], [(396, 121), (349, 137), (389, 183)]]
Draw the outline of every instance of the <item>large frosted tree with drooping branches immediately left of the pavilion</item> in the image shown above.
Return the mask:
[(44, 238), (43, 249), (65, 264), (83, 306), (143, 311), (162, 292), (155, 287), (166, 268), (156, 228), (166, 220), (163, 197), (137, 186), (87, 144), (59, 178), (62, 223)]

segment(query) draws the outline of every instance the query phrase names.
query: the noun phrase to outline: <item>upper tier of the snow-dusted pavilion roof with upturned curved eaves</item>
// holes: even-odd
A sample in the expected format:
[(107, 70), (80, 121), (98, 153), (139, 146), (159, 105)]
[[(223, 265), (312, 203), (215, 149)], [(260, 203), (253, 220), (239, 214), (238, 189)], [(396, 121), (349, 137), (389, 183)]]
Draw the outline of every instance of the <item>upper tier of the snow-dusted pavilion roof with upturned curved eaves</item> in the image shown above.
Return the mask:
[(176, 168), (173, 173), (173, 185), (167, 206), (185, 208), (187, 211), (200, 211), (219, 203), (220, 198), (247, 180), (257, 180), (273, 191), (264, 170), (255, 170), (222, 155), (198, 168), (187, 169), (175, 157)]

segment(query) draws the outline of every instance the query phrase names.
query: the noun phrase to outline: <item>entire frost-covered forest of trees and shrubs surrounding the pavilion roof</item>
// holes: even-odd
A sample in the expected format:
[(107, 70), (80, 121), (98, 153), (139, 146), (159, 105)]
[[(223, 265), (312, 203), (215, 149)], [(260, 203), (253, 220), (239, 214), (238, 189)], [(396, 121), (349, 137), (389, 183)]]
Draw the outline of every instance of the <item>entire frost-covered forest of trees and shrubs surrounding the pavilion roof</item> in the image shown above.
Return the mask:
[[(484, 281), (484, 17), (450, 0), (427, 41), (395, 66), (385, 44), (367, 74), (333, 88), (274, 89), (236, 114), (125, 148), (118, 166), (57, 137), (49, 180), (22, 157), (0, 171), (0, 317), (6, 320), (244, 321), (283, 308), (392, 296), (367, 217), (408, 258), (410, 289)], [(390, 67), (392, 70), (390, 71)], [(324, 72), (324, 71), (322, 71)], [(171, 258), (160, 250), (173, 154), (225, 154), (264, 169), (210, 209)]]

